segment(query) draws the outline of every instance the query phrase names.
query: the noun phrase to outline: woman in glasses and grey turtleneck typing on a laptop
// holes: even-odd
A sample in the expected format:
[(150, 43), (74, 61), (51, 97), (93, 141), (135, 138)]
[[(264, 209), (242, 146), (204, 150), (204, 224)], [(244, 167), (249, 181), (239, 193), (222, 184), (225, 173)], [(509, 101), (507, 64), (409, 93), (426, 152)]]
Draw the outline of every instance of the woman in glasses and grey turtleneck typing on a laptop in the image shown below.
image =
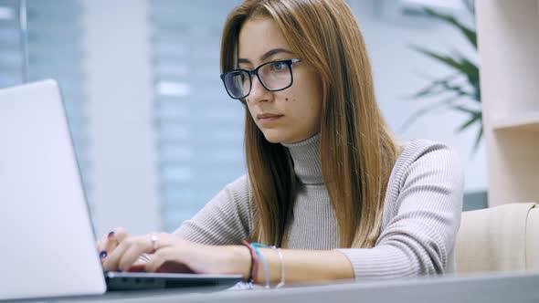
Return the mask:
[(248, 175), (174, 234), (103, 236), (105, 269), (261, 284), (453, 271), (460, 162), (443, 144), (392, 138), (343, 0), (245, 1), (227, 18), (221, 70), (246, 109)]

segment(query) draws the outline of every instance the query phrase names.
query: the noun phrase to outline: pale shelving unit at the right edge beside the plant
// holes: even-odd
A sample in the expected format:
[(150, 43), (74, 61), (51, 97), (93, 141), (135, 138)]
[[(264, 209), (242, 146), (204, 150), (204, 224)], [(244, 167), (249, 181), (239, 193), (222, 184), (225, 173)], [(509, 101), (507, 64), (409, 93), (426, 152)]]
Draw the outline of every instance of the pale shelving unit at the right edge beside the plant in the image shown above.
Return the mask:
[(476, 8), (489, 204), (539, 202), (539, 0)]

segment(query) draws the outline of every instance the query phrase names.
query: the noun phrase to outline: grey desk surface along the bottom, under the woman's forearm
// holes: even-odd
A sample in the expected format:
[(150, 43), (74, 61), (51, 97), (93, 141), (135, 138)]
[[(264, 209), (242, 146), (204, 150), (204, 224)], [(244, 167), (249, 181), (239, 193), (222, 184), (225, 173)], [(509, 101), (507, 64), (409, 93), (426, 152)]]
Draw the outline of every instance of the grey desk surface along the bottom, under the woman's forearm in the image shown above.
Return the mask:
[[(36, 301), (34, 301), (36, 302)], [(538, 274), (505, 274), (481, 277), (437, 277), (410, 281), (346, 283), (281, 289), (211, 292), (111, 293), (99, 297), (55, 298), (39, 302), (180, 303), (180, 302), (539, 302)]]

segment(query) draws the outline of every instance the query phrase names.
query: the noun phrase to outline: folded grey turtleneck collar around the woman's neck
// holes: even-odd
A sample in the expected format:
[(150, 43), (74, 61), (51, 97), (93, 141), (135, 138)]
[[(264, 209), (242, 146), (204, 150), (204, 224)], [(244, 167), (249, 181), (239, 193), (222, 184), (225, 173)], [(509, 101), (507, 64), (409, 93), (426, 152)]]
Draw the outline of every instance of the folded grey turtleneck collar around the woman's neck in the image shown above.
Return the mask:
[(320, 134), (297, 143), (282, 143), (294, 162), (294, 172), (304, 184), (322, 184), (322, 165), (320, 162)]

